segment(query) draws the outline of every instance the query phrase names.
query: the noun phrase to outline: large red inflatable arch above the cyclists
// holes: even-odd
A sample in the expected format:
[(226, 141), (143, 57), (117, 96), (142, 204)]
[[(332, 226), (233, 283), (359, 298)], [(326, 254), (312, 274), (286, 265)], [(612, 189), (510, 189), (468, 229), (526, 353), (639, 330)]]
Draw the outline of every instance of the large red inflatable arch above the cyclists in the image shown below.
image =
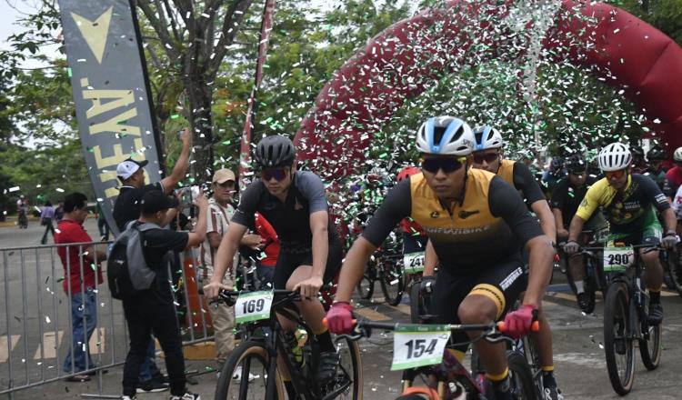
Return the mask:
[[(506, 7), (487, 8), (486, 2), (453, 1), (448, 6), (457, 7), (456, 14), (429, 9), (388, 27), (336, 71), (296, 133), (300, 159), (310, 160), (328, 177), (351, 174), (362, 165), (372, 135), (404, 100), (419, 95), (426, 84), (456, 66), (451, 60), (466, 53), (471, 45), (468, 36), (482, 29), (469, 26), (478, 20), (474, 16), (507, 13)], [(597, 24), (588, 25), (574, 9)], [(682, 145), (682, 49), (653, 26), (612, 5), (563, 0), (557, 15), (544, 45), (575, 40), (579, 33), (590, 46), (574, 46), (583, 50), (571, 52), (572, 62), (610, 71), (615, 79), (607, 82), (624, 88), (649, 122), (656, 121), (649, 126), (667, 141), (668, 152)], [(416, 35), (436, 24), (442, 25), (436, 34)]]

